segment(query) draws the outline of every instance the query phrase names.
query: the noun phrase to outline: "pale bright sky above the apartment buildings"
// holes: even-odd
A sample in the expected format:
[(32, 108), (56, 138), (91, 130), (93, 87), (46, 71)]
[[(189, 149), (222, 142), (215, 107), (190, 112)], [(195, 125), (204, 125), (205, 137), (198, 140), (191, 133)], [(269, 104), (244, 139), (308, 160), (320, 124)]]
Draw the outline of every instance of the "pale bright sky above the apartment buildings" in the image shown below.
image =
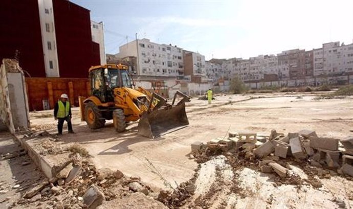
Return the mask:
[[(353, 42), (353, 0), (71, 0), (105, 24), (106, 53), (148, 38), (199, 52), (206, 60), (249, 58)], [(126, 40), (127, 36), (127, 40)]]

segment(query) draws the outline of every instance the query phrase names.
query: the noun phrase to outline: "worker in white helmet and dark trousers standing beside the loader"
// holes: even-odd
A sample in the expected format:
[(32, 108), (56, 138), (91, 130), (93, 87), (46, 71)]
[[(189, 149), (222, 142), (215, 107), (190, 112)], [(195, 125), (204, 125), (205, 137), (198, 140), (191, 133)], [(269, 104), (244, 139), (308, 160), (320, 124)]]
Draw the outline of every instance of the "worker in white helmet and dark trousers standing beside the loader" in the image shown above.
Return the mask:
[(72, 130), (72, 123), (71, 123), (71, 107), (70, 102), (68, 101), (69, 97), (67, 94), (61, 94), (60, 100), (55, 103), (54, 107), (54, 118), (58, 120), (58, 135), (62, 135), (62, 126), (64, 121), (68, 123), (68, 131), (69, 134), (75, 133)]

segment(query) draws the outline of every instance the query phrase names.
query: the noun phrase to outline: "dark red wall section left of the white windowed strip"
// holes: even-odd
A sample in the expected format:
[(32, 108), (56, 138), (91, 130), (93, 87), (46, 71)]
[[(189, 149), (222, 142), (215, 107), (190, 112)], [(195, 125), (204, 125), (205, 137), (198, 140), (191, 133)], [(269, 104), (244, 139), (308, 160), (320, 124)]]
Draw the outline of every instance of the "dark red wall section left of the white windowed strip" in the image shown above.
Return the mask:
[(0, 31), (1, 64), (18, 50), (19, 65), (32, 77), (45, 77), (38, 1), (2, 0)]

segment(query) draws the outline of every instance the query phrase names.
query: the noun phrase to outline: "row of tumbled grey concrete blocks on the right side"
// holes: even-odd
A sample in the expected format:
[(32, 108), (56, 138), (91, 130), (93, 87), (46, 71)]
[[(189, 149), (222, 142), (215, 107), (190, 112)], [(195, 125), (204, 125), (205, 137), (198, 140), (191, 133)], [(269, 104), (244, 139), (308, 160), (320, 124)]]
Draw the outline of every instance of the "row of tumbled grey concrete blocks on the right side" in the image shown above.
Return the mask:
[[(191, 144), (191, 154), (202, 161), (207, 160), (205, 156), (224, 152), (241, 154), (250, 162), (256, 162), (261, 172), (275, 172), (281, 178), (289, 174), (285, 160), (293, 158), (300, 162), (305, 160), (318, 168), (337, 170), (341, 175), (353, 176), (353, 137), (339, 140), (318, 137), (315, 131), (310, 130), (288, 135), (272, 130), (270, 136), (229, 132), (228, 138)], [(280, 159), (283, 159), (282, 162)]]

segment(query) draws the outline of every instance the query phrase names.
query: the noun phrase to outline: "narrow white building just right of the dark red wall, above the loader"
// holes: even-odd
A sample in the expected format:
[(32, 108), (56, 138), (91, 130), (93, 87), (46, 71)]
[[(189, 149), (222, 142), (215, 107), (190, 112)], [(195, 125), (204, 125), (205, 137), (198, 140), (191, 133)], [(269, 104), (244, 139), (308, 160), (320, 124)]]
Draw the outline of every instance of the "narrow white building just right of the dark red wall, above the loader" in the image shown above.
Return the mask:
[(104, 25), (103, 22), (96, 23), (91, 20), (91, 32), (92, 32), (92, 40), (95, 43), (99, 44), (99, 53), (100, 53), (100, 64), (106, 64), (106, 56), (105, 56), (105, 43), (104, 43)]

